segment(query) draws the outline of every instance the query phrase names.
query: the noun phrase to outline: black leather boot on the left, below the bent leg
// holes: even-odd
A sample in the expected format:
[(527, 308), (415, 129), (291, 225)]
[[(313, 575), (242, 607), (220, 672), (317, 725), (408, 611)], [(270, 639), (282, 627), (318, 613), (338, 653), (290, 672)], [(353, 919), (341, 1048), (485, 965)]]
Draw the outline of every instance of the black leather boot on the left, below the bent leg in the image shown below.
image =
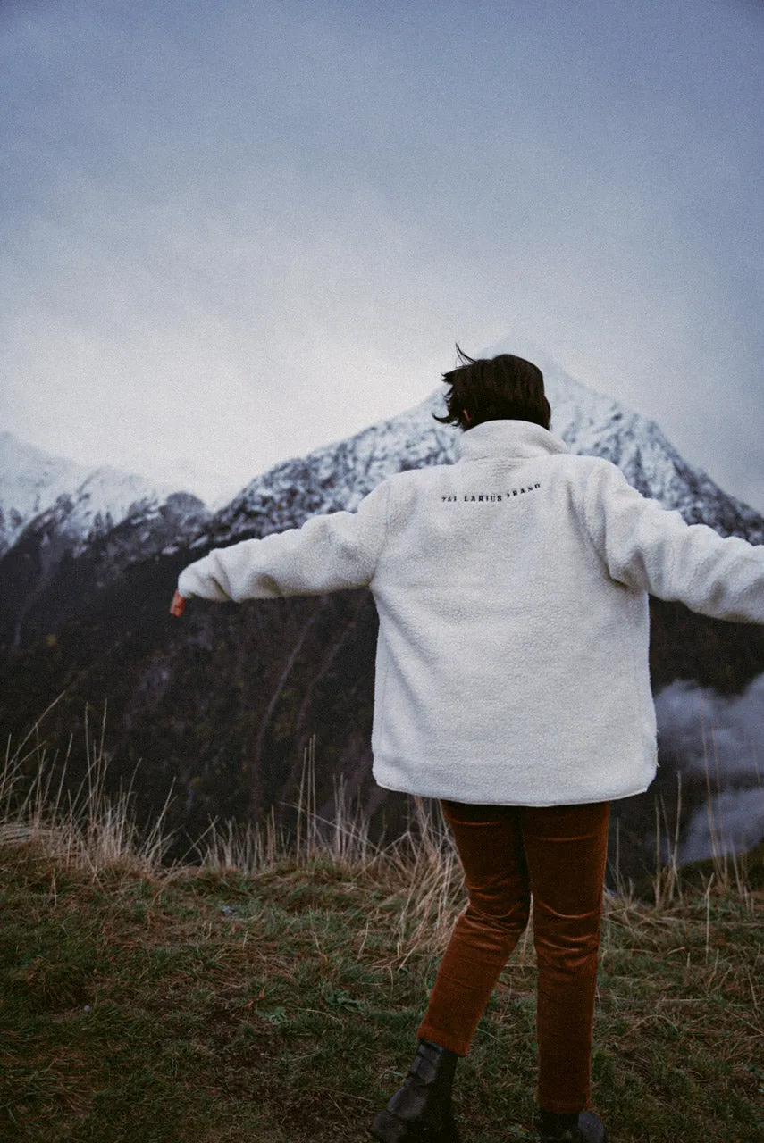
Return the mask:
[(451, 1109), (451, 1085), (459, 1056), (420, 1040), (408, 1074), (375, 1117), (369, 1133), (381, 1143), (461, 1143)]

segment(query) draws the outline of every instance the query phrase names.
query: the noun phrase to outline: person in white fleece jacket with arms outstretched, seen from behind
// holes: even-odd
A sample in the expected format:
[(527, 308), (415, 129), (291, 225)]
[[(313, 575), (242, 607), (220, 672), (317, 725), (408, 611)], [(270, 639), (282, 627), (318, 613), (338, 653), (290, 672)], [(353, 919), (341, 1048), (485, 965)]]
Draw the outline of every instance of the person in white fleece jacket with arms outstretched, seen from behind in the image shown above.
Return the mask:
[(606, 1141), (591, 1042), (611, 801), (658, 767), (647, 596), (764, 623), (764, 547), (687, 525), (616, 465), (550, 430), (541, 370), (459, 363), (445, 416), (456, 461), (397, 472), (355, 512), (246, 539), (185, 567), (193, 597), (368, 588), (380, 625), (373, 775), (438, 799), (468, 889), (382, 1143), (459, 1143), (455, 1065), (524, 933), (538, 959), (535, 1125)]

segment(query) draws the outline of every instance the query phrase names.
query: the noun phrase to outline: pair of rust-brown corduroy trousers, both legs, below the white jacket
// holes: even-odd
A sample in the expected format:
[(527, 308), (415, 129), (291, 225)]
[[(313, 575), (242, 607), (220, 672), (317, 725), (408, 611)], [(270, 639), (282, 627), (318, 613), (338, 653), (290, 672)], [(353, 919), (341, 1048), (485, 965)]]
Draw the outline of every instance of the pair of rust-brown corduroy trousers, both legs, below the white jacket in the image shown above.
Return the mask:
[(610, 801), (576, 806), (440, 802), (469, 894), (416, 1036), (467, 1055), (533, 894), (539, 1105), (586, 1111)]

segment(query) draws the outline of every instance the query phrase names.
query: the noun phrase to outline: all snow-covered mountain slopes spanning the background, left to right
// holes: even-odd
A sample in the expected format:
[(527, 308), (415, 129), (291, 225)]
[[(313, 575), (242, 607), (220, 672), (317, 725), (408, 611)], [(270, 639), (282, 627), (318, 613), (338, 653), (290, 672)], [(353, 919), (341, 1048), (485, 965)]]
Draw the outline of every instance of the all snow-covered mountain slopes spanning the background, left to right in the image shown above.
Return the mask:
[[(539, 354), (534, 355), (534, 360)], [(552, 409), (551, 430), (574, 453), (603, 456), (618, 464), (635, 488), (666, 507), (678, 509), (689, 523), (703, 522), (722, 535), (764, 542), (764, 520), (749, 505), (724, 493), (701, 469), (687, 464), (654, 421), (575, 381), (555, 362), (541, 360)], [(404, 469), (447, 464), (454, 459), (461, 430), (441, 425), (445, 385), (404, 413), (344, 440), (273, 465), (232, 498), (217, 497), (196, 511), (164, 549), (172, 554), (191, 539), (192, 549), (222, 546), (244, 536), (300, 527), (309, 517), (352, 511), (385, 477)], [(0, 433), (0, 557), (32, 521), (65, 543), (73, 557), (136, 514), (146, 521), (183, 488), (114, 467), (95, 471)], [(190, 533), (192, 533), (190, 535)], [(135, 546), (135, 545), (134, 545)], [(140, 546), (140, 545), (138, 545)]]

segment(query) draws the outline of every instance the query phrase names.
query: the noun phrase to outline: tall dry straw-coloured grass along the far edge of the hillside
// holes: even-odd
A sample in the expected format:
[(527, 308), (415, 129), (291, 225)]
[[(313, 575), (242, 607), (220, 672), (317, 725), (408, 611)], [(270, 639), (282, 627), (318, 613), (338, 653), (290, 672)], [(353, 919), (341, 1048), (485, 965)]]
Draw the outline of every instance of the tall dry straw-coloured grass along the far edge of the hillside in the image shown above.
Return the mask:
[[(61, 696), (59, 696), (61, 697)], [(208, 829), (191, 847), (190, 863), (166, 861), (173, 832), (166, 828), (166, 814), (172, 790), (161, 813), (148, 832), (137, 829), (133, 810), (133, 782), (114, 798), (106, 792), (109, 753), (105, 750), (106, 704), (100, 728), (94, 734), (89, 711), (85, 714), (86, 775), (77, 790), (65, 782), (72, 737), (63, 764), (58, 767), (57, 752), (50, 753), (41, 736), (41, 724), (54, 703), (43, 712), (23, 740), (6, 746), (0, 775), (0, 846), (3, 842), (30, 841), (49, 856), (67, 866), (88, 871), (94, 878), (108, 866), (119, 864), (132, 871), (162, 879), (178, 873), (212, 870), (237, 871), (257, 876), (273, 871), (281, 863), (299, 866), (329, 863), (345, 876), (372, 874), (376, 884), (385, 886), (389, 897), (382, 903), (397, 901), (396, 921), (398, 965), (423, 945), (445, 946), (453, 928), (454, 917), (463, 902), (463, 879), (459, 855), (451, 832), (436, 804), (436, 817), (425, 810), (425, 800), (413, 797), (413, 820), (408, 829), (389, 845), (375, 846), (368, 837), (368, 821), (360, 808), (348, 805), (344, 777), (334, 784), (335, 813), (332, 821), (317, 813), (316, 801), (316, 740), (310, 740), (303, 753), (302, 777), (296, 805), (296, 836), (287, 838), (277, 829), (271, 810), (265, 824), (210, 822)], [(713, 728), (706, 736), (715, 748)], [(716, 760), (716, 792), (721, 793), (718, 754)], [(707, 754), (708, 764), (708, 754)], [(58, 773), (54, 786), (53, 774)], [(758, 774), (758, 772), (757, 772)], [(664, 913), (685, 906), (685, 887), (677, 861), (682, 813), (682, 776), (677, 774), (677, 810), (670, 829), (661, 797), (660, 809), (655, 799), (655, 872), (653, 876), (654, 908), (635, 900), (635, 886), (629, 879), (623, 884), (620, 871), (620, 823), (615, 828), (615, 893), (606, 893), (605, 914), (618, 913), (619, 921), (638, 927), (647, 912)], [(762, 786), (759, 777), (759, 788)], [(714, 814), (714, 793), (707, 765), (707, 806), (714, 848), (713, 871), (703, 882), (707, 917), (710, 917), (711, 896), (737, 895), (753, 914), (755, 897), (747, 881), (745, 855), (732, 852), (725, 842), (723, 822)], [(762, 791), (764, 798), (764, 790)], [(663, 853), (663, 826), (673, 846), (668, 862)], [(403, 902), (403, 903), (401, 903)], [(519, 949), (520, 962), (525, 959), (528, 929)], [(708, 953), (708, 949), (707, 949)]]

